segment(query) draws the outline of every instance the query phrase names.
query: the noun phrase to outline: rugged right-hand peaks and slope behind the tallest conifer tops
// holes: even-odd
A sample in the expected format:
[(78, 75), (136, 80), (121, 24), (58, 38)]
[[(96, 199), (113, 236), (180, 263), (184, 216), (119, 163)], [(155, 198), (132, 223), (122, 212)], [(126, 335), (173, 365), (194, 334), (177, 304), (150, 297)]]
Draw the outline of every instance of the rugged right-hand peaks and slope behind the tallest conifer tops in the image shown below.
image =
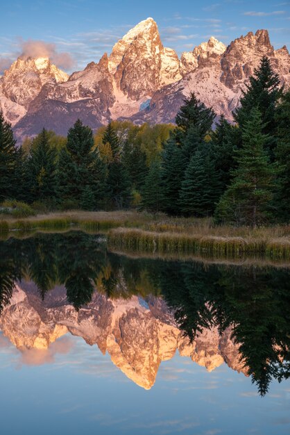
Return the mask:
[(205, 106), (212, 107), (217, 115), (224, 113), (232, 121), (232, 110), (239, 104), (241, 90), (246, 88), (249, 77), (264, 55), (271, 59), (281, 83), (289, 85), (287, 47), (274, 50), (266, 30), (257, 31), (255, 35), (249, 32), (231, 42), (223, 54), (211, 52), (199, 58), (198, 67), (193, 72), (155, 92), (148, 108), (143, 113), (136, 113), (133, 122), (174, 122), (183, 99), (191, 92), (195, 92)]

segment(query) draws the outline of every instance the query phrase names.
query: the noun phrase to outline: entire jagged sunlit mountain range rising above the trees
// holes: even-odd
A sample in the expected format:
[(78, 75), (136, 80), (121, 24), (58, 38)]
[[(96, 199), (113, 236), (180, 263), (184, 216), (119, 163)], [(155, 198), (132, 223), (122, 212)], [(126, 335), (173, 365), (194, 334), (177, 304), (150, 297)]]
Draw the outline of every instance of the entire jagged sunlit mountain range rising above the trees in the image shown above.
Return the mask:
[(274, 50), (266, 30), (249, 32), (228, 47), (212, 37), (178, 58), (148, 18), (119, 40), (110, 56), (71, 76), (48, 58), (18, 58), (0, 78), (0, 107), (17, 138), (42, 127), (66, 135), (78, 118), (94, 130), (117, 119), (174, 122), (190, 92), (232, 120), (241, 90), (264, 55), (289, 85), (287, 47)]

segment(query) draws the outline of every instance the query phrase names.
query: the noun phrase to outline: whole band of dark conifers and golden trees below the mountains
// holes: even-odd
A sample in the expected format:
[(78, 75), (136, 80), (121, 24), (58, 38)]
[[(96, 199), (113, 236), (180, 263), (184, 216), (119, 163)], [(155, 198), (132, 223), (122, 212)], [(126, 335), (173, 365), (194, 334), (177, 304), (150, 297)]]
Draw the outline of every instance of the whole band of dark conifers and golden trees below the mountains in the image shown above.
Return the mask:
[(67, 139), (43, 129), (17, 148), (0, 114), (0, 202), (84, 210), (134, 206), (253, 227), (289, 222), (289, 104), (289, 90), (263, 57), (234, 124), (223, 115), (217, 119), (192, 93), (175, 127), (111, 122), (94, 136), (78, 120)]

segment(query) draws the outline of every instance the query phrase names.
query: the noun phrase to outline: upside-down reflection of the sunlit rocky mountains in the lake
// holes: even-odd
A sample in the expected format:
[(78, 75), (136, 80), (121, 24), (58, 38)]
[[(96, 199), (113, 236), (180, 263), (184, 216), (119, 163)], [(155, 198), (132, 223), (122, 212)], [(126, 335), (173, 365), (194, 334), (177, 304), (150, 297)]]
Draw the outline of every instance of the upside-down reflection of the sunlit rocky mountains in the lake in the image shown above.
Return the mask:
[(108, 352), (115, 366), (146, 389), (155, 383), (160, 363), (177, 350), (208, 371), (227, 363), (247, 375), (231, 327), (221, 335), (216, 328), (205, 329), (190, 343), (165, 302), (153, 296), (108, 299), (94, 293), (92, 302), (76, 311), (65, 288), (55, 288), (42, 302), (35, 285), (22, 282), (1, 314), (0, 328), (20, 352), (49, 350), (67, 333), (83, 337), (88, 345)]

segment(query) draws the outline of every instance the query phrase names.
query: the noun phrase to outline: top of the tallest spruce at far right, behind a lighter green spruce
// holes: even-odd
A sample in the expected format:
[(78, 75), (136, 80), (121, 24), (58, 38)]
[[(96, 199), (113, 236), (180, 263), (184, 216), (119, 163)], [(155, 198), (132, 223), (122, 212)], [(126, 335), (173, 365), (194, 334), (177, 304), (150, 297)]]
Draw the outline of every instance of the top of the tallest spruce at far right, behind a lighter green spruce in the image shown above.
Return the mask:
[(233, 113), (235, 122), (244, 128), (250, 110), (253, 107), (259, 109), (263, 125), (262, 133), (268, 135), (264, 147), (268, 150), (268, 155), (272, 161), (277, 135), (275, 110), (282, 92), (278, 74), (273, 72), (270, 59), (263, 56), (259, 67), (250, 77), (250, 83), (246, 86), (246, 90), (242, 92), (240, 106)]

